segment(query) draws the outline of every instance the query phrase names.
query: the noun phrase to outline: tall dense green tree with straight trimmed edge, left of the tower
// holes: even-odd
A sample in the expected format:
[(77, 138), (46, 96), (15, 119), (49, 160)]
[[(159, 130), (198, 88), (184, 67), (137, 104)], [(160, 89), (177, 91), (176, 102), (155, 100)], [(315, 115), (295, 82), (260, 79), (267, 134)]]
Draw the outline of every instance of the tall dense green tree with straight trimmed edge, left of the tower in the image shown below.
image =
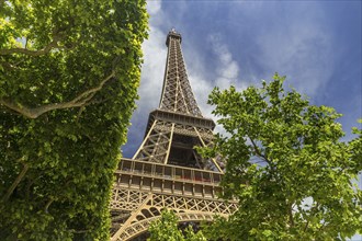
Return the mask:
[(0, 239), (106, 240), (144, 0), (0, 1)]

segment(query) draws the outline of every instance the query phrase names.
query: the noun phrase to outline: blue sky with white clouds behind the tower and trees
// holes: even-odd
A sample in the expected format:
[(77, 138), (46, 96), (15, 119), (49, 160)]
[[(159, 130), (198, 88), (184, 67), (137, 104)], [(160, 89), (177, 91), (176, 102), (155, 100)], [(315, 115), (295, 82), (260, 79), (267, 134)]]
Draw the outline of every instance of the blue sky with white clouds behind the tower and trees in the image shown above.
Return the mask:
[(343, 114), (350, 139), (362, 117), (361, 8), (361, 1), (149, 0), (138, 108), (124, 157), (135, 153), (148, 113), (158, 107), (172, 27), (183, 37), (189, 80), (205, 116), (213, 117), (206, 101), (215, 85), (242, 90), (279, 72), (312, 104)]

